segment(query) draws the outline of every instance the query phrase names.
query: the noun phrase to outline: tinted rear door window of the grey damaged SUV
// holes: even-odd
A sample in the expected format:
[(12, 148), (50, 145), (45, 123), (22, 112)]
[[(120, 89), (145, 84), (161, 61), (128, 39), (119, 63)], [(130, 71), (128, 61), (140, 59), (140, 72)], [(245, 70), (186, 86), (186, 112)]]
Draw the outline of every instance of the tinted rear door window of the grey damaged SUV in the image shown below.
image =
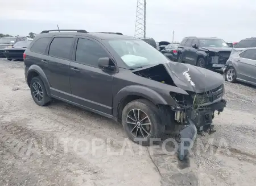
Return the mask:
[(54, 38), (49, 46), (49, 55), (63, 59), (71, 59), (71, 49), (75, 38)]

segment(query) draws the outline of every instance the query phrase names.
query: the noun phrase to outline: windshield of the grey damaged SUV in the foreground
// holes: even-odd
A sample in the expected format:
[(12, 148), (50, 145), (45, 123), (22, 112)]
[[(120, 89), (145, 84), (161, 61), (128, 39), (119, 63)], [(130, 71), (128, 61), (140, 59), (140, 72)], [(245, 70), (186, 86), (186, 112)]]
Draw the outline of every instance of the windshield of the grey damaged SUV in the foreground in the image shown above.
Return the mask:
[(112, 39), (108, 43), (130, 68), (168, 61), (166, 56), (143, 40)]

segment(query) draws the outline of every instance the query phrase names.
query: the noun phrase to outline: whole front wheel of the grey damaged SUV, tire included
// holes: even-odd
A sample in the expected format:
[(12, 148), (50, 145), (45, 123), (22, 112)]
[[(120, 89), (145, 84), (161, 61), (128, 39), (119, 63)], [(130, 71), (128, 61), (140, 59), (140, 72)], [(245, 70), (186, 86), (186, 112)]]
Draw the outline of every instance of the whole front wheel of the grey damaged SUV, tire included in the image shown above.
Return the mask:
[(122, 111), (122, 125), (127, 137), (142, 146), (150, 146), (153, 143), (150, 139), (163, 137), (165, 129), (158, 108), (152, 102), (143, 99), (131, 101), (125, 106)]

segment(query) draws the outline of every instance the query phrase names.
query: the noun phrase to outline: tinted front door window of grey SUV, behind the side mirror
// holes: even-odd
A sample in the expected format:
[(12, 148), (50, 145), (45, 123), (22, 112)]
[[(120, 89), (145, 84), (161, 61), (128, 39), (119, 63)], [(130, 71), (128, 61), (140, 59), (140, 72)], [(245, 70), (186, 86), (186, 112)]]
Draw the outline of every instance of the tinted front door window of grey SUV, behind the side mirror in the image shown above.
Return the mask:
[(76, 61), (81, 64), (97, 67), (98, 59), (109, 57), (100, 44), (89, 39), (79, 38), (76, 48)]

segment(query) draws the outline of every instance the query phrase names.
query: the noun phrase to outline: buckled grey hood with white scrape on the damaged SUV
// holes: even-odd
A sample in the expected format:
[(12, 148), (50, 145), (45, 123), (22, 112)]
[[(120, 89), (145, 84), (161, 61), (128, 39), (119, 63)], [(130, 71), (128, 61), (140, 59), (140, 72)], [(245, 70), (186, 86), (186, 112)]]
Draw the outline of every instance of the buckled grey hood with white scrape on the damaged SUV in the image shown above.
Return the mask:
[(163, 64), (174, 84), (184, 90), (202, 93), (224, 83), (219, 73), (190, 64), (168, 62)]

